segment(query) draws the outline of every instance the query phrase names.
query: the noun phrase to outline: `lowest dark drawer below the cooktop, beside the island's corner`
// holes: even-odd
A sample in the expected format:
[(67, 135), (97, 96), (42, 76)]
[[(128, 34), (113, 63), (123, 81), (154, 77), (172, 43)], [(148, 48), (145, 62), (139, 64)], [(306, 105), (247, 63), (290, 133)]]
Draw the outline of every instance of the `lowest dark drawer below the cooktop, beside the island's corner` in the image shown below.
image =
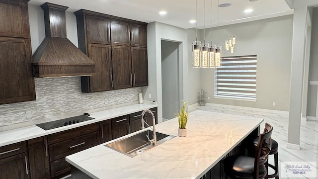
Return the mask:
[[(51, 177), (66, 176), (71, 174), (71, 164), (65, 161), (65, 158), (51, 162)], [(61, 176), (62, 177), (62, 176)]]

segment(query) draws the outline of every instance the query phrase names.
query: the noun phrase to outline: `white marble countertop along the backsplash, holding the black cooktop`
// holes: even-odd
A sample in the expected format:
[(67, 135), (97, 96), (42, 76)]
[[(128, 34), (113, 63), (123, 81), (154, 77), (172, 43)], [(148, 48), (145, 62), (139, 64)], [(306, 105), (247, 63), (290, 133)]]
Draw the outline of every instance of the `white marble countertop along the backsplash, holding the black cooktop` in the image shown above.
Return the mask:
[(90, 113), (90, 117), (95, 118), (92, 120), (64, 126), (64, 127), (59, 127), (51, 130), (44, 130), (36, 125), (31, 125), (27, 127), (21, 127), (17, 129), (12, 129), (12, 130), (7, 130), (0, 132), (0, 147), (13, 144), (16, 142), (21, 142), (29, 139), (33, 139), (36, 137), (41, 137), (45, 136), (48, 134), (53, 134), (56, 132), (61, 132), (65, 131), (68, 129), (76, 128), (79, 126), (84, 126), (87, 124), (92, 124), (95, 122), (111, 119), (114, 117), (119, 117), (122, 115), (126, 114), (131, 114), (134, 112), (138, 112), (144, 109), (149, 109), (153, 107), (157, 107), (157, 104), (149, 104), (149, 103), (143, 103), (143, 104), (132, 104), (132, 105), (127, 105), (127, 106), (122, 106), (122, 107), (117, 107), (117, 108), (112, 108), (108, 110), (103, 110), (99, 112), (93, 112)]

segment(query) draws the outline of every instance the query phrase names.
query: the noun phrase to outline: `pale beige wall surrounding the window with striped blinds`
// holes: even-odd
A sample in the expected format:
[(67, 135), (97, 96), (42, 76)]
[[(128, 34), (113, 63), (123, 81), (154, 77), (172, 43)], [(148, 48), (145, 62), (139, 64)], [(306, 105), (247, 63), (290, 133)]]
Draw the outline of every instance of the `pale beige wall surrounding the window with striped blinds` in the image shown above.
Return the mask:
[[(214, 42), (219, 39), (224, 46), (225, 39), (234, 33), (237, 37), (234, 54), (223, 48), (223, 56), (257, 55), (257, 101), (213, 98), (214, 69), (201, 69), (201, 87), (210, 96), (207, 102), (288, 111), (293, 15), (213, 28), (212, 35)], [(203, 39), (201, 32), (200, 40)], [(206, 29), (206, 39), (211, 41), (211, 29)]]

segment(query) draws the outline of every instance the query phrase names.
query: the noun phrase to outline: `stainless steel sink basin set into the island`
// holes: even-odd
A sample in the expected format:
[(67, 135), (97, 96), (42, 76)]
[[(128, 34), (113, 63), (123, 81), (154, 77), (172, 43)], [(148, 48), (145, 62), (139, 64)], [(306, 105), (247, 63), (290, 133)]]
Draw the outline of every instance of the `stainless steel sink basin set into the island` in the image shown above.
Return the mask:
[[(153, 131), (152, 130), (142, 131), (133, 136), (109, 143), (105, 146), (115, 151), (118, 151), (120, 153), (123, 153), (129, 157), (135, 157), (137, 155), (140, 155), (146, 152), (147, 150), (153, 147), (156, 147), (148, 143), (148, 138), (146, 135), (148, 135), (149, 138), (152, 139)], [(157, 135), (157, 146), (175, 137), (173, 135), (166, 135), (160, 132), (156, 132), (156, 135)]]

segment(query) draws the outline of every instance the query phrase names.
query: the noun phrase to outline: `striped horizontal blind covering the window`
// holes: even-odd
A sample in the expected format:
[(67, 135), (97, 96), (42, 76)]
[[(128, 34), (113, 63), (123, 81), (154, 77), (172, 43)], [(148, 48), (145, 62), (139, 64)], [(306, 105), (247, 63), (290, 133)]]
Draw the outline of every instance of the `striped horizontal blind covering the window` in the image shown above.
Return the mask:
[(223, 57), (216, 70), (216, 95), (256, 98), (257, 56)]

